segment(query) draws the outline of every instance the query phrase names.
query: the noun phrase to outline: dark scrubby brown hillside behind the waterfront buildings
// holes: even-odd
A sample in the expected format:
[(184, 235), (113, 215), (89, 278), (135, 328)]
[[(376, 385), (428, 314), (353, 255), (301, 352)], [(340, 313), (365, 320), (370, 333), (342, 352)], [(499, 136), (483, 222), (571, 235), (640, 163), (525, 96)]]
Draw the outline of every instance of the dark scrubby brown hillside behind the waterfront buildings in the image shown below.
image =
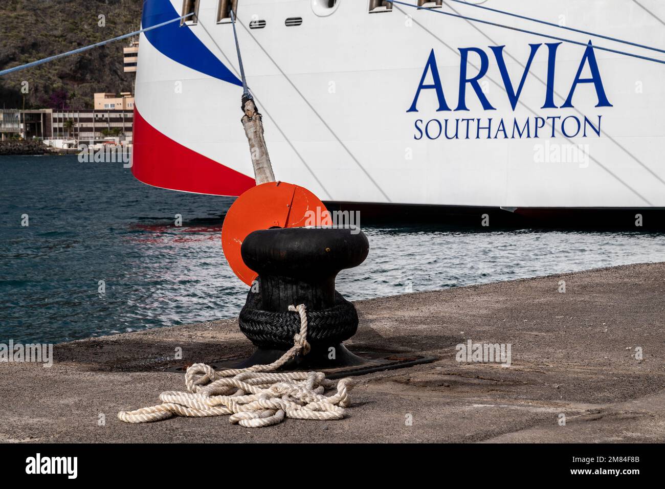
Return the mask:
[[(140, 0), (0, 1), (0, 70), (138, 29)], [(100, 27), (99, 15), (106, 25)], [(118, 41), (0, 78), (0, 108), (92, 108), (94, 92), (133, 92)]]

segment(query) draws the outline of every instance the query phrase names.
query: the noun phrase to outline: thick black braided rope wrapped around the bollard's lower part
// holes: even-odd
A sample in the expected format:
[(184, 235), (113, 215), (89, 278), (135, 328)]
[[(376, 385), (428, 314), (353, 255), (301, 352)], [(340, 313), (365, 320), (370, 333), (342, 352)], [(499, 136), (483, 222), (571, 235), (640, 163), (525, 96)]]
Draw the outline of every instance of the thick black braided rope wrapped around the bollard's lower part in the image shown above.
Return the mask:
[[(346, 341), (358, 329), (358, 313), (352, 303), (335, 291), (334, 306), (309, 311), (307, 339), (314, 345), (336, 345)], [(257, 347), (288, 349), (300, 323), (289, 312), (261, 309), (261, 292), (249, 291), (247, 301), (238, 317), (240, 331)]]

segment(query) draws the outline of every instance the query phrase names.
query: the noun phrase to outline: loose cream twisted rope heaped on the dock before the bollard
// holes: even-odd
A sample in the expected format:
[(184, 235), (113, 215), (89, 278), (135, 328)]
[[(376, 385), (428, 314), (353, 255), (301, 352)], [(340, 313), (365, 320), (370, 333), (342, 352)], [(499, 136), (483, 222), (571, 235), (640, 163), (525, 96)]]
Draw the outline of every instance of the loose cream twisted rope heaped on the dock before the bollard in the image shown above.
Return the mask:
[[(348, 392), (352, 379), (338, 382), (326, 379), (323, 372), (275, 372), (297, 355), (309, 353), (307, 308), (289, 306), (300, 315), (301, 329), (293, 336), (293, 347), (270, 365), (247, 369), (215, 369), (196, 363), (187, 369), (185, 385), (189, 392), (168, 391), (160, 395), (162, 404), (134, 411), (118, 412), (124, 422), (151, 422), (172, 416), (221, 416), (247, 428), (261, 428), (294, 419), (342, 419), (350, 405)], [(327, 390), (336, 393), (327, 396)]]

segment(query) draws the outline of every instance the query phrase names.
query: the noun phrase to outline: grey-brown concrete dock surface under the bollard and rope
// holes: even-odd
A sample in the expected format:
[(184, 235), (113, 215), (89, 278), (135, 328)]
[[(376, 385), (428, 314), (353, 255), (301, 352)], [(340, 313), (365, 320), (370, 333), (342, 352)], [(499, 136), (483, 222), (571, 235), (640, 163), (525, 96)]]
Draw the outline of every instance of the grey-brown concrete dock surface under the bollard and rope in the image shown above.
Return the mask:
[[(0, 363), (0, 442), (665, 441), (665, 263), (356, 307), (352, 351), (438, 360), (357, 377), (343, 420), (249, 429), (227, 416), (116, 418), (184, 390), (184, 375), (169, 367), (249, 355), (237, 322), (225, 320), (55, 345), (52, 368)], [(511, 366), (456, 361), (456, 345), (468, 339), (510, 344)], [(178, 347), (183, 360), (173, 359)]]

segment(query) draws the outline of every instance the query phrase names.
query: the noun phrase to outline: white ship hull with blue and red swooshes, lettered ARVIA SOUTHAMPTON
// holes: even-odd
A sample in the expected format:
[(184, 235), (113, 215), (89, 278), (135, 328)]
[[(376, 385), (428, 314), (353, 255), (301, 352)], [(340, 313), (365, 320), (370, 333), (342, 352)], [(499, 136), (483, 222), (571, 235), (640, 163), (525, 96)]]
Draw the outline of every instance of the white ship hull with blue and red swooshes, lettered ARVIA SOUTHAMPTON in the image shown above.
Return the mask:
[[(664, 53), (459, 3), (442, 10), (585, 45), (548, 46), (558, 41), (404, 5), (368, 13), (368, 0), (325, 3), (239, 0), (247, 84), (279, 180), (331, 202), (665, 207), (665, 65), (585, 45)], [(630, 1), (483, 5), (663, 48), (654, 15), (665, 19), (665, 4), (643, 3), (653, 15)], [(140, 40), (133, 168), (147, 184), (219, 195), (253, 185), (233, 31), (217, 23), (218, 5), (200, 0), (195, 25)], [(143, 27), (182, 9), (148, 0)], [(302, 24), (287, 27), (290, 17)], [(265, 27), (249, 29), (252, 20)], [(460, 82), (485, 61), (477, 85)]]

